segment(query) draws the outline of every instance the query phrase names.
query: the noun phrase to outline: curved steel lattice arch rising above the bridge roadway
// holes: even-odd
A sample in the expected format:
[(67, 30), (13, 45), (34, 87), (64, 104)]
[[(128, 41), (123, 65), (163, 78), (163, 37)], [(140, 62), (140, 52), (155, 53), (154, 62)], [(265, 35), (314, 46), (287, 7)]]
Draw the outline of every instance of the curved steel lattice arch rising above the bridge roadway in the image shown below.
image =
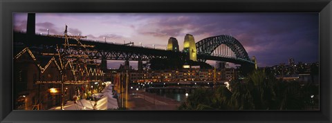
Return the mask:
[(237, 58), (246, 59), (250, 61), (247, 51), (242, 44), (230, 35), (218, 35), (214, 37), (207, 37), (201, 41), (196, 42), (197, 54), (211, 55), (212, 52), (221, 44), (228, 46), (236, 55)]

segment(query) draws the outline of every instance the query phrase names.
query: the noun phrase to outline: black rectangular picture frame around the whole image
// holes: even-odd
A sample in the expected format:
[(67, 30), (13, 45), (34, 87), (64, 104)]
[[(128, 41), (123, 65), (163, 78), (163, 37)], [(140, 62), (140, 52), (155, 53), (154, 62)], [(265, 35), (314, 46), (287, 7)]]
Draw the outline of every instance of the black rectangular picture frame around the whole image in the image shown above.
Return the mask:
[[(12, 111), (12, 12), (319, 12), (320, 111)], [(331, 0), (1, 0), (1, 122), (331, 122)]]

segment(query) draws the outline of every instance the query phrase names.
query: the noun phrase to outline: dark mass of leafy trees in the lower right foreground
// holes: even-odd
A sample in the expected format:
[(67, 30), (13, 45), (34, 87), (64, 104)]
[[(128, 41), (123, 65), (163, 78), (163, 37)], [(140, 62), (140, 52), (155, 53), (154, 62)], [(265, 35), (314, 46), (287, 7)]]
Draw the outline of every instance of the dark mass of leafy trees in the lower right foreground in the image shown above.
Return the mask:
[(284, 82), (264, 70), (255, 70), (242, 82), (232, 80), (231, 91), (219, 86), (212, 91), (199, 88), (187, 97), (181, 110), (299, 110), (309, 104), (310, 95), (317, 95), (313, 85), (301, 87), (298, 82)]

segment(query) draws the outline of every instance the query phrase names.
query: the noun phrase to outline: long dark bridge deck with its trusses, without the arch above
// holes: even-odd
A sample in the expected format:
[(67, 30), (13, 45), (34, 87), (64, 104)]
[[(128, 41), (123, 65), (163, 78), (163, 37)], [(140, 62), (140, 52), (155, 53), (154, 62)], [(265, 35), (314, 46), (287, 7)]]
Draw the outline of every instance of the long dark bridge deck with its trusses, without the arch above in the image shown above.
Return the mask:
[[(25, 46), (40, 46), (44, 44), (46, 46), (63, 46), (65, 39), (59, 37), (50, 37), (48, 35), (26, 35), (22, 32), (14, 32), (14, 42), (22, 42)], [(75, 39), (68, 39), (69, 44), (77, 44)], [(141, 46), (126, 46), (123, 44), (106, 43), (104, 41), (93, 41), (81, 39), (80, 42), (84, 45), (94, 46), (86, 47), (87, 50), (93, 50), (99, 52), (99, 56), (93, 56), (93, 59), (111, 59), (111, 60), (124, 60), (129, 59), (131, 61), (137, 61), (139, 59), (147, 60), (151, 59), (151, 56), (156, 57), (185, 57), (187, 53), (173, 52), (171, 50), (160, 50), (154, 48), (144, 48)], [(108, 52), (108, 53), (107, 53)], [(113, 53), (113, 54), (112, 54)], [(118, 53), (118, 54), (116, 54)], [(105, 54), (109, 56), (106, 57)], [(119, 55), (120, 54), (120, 55)], [(111, 58), (110, 58), (111, 57)], [(116, 58), (114, 58), (116, 57)], [(121, 57), (121, 58), (118, 58)], [(126, 58), (127, 57), (127, 58)], [(131, 57), (131, 58), (128, 58)], [(140, 58), (138, 58), (140, 57)], [(234, 64), (249, 64), (253, 65), (252, 61), (241, 60), (232, 57), (219, 57), (213, 55), (197, 54), (198, 59), (209, 59), (216, 61), (228, 61)]]

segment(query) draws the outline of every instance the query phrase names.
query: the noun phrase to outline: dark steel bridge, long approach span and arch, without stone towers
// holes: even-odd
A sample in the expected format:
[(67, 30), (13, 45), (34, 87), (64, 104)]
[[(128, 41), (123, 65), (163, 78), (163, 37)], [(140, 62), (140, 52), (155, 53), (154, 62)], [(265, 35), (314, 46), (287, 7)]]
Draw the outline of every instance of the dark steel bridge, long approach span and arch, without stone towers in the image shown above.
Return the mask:
[[(62, 46), (64, 39), (58, 37), (50, 37), (48, 35), (33, 35), (29, 36), (25, 33), (14, 32), (14, 41), (22, 42), (26, 46)], [(69, 39), (75, 42), (73, 39)], [(141, 46), (124, 46), (122, 44), (111, 44), (98, 41), (81, 40), (82, 44), (93, 45), (93, 48), (80, 48), (73, 47), (72, 50), (67, 50), (71, 55), (86, 55), (89, 59), (107, 59), (107, 60), (129, 60), (129, 61), (148, 61), (153, 58), (169, 58), (169, 57), (185, 57), (187, 54), (182, 52), (173, 52), (171, 50), (160, 50), (154, 48), (143, 48)], [(234, 56), (213, 54), (213, 51), (225, 44), (232, 51)], [(197, 59), (200, 61), (215, 60), (215, 61), (228, 61), (234, 64), (255, 64), (248, 57), (248, 53), (243, 46), (229, 35), (219, 35), (215, 37), (208, 37), (196, 42)], [(69, 56), (68, 56), (69, 58)]]

